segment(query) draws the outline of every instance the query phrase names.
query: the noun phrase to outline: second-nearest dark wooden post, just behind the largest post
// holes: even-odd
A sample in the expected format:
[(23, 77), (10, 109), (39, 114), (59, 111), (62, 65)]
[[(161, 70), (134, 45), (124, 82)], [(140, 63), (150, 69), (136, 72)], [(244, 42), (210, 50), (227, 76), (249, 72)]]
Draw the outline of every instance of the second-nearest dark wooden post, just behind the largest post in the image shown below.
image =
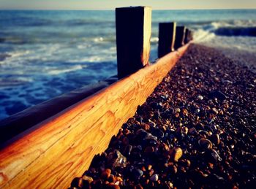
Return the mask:
[(158, 58), (174, 51), (176, 22), (159, 23)]

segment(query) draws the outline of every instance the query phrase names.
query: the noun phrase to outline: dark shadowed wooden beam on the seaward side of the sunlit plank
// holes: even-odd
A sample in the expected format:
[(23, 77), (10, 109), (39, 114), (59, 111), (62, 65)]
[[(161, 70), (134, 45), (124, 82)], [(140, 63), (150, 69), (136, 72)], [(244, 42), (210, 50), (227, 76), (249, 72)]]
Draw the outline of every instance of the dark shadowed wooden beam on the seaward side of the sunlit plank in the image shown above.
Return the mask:
[(48, 117), (56, 115), (58, 112), (61, 112), (61, 110), (85, 99), (102, 88), (108, 87), (113, 82), (116, 82), (116, 80), (116, 77), (110, 77), (107, 80), (86, 85), (83, 88), (72, 90), (69, 93), (44, 101), (34, 107), (30, 107), (22, 112), (18, 112), (15, 115), (11, 115), (6, 119), (1, 120), (0, 148), (4, 145), (4, 142), (7, 142), (14, 136), (26, 131), (37, 123), (40, 123), (42, 120), (46, 120)]

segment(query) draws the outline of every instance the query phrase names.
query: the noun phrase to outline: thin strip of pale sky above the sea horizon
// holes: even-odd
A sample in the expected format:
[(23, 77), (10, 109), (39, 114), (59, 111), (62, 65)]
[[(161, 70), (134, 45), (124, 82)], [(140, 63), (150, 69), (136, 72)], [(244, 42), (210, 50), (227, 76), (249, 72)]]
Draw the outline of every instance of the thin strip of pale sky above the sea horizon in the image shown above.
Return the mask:
[(0, 9), (256, 9), (256, 0), (0, 0)]

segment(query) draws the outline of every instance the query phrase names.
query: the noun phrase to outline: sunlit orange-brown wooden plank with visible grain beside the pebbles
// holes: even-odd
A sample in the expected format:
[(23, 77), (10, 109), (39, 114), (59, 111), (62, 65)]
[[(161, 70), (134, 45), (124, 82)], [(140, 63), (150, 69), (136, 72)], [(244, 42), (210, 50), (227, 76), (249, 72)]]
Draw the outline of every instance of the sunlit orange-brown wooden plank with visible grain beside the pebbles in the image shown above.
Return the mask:
[(0, 151), (0, 188), (67, 188), (187, 50), (181, 47), (34, 126)]

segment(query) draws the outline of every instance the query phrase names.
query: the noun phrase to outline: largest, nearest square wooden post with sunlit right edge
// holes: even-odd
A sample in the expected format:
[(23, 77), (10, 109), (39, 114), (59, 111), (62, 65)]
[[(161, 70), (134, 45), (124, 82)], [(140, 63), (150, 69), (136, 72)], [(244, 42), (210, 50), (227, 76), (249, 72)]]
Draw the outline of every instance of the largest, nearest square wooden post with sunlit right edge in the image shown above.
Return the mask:
[(151, 7), (116, 8), (118, 79), (148, 64), (151, 38)]

